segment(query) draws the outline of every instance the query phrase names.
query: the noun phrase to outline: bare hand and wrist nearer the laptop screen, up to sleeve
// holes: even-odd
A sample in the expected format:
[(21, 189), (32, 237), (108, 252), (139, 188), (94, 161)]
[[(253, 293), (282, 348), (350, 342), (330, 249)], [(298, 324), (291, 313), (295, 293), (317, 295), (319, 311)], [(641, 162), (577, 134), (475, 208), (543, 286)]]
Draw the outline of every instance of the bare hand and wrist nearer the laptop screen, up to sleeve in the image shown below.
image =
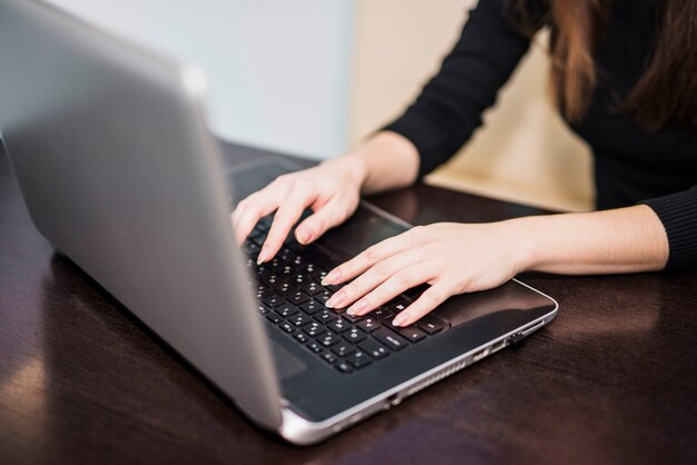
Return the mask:
[(295, 238), (310, 244), (348, 218), (361, 191), (371, 194), (411, 185), (419, 170), (416, 148), (404, 137), (381, 131), (353, 151), (321, 165), (279, 176), (242, 200), (232, 220), (237, 244), (256, 222), (276, 211), (257, 261), (271, 260), (306, 208), (313, 215), (295, 228)]

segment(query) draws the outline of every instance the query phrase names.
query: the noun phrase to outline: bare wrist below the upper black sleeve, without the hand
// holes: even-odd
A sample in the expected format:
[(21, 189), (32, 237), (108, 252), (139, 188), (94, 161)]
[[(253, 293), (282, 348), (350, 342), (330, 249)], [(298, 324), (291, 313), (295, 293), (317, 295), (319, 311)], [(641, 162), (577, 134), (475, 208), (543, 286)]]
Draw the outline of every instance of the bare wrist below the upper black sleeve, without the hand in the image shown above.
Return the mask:
[(354, 171), (363, 194), (411, 186), (419, 172), (419, 154), (414, 145), (390, 131), (377, 132), (336, 162)]

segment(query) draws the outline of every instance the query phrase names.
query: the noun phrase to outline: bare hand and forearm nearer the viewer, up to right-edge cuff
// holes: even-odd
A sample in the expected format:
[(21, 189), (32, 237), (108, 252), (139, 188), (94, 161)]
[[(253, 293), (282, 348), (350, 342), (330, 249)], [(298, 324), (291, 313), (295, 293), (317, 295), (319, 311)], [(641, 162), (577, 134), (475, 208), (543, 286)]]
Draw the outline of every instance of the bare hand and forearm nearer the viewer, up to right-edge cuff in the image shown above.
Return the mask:
[(591, 275), (659, 270), (669, 244), (654, 210), (637, 205), (588, 214), (542, 215), (501, 222), (441, 222), (383, 240), (327, 274), (355, 278), (326, 305), (365, 315), (404, 290), (431, 285), (394, 320), (409, 326), (448, 297), (497, 287), (518, 273)]

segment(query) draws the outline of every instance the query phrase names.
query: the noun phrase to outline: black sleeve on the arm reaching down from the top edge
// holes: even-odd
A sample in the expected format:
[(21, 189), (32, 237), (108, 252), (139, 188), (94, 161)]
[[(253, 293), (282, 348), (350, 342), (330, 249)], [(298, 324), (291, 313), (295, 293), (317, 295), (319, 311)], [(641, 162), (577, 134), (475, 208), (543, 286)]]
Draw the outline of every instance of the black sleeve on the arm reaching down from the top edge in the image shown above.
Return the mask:
[[(481, 125), (499, 89), (530, 44), (513, 20), (510, 0), (480, 0), (454, 49), (416, 101), (384, 130), (408, 138), (419, 150), (423, 177), (452, 157)], [(533, 3), (533, 2), (530, 2)], [(542, 7), (531, 9), (539, 28)], [(537, 19), (536, 19), (537, 18)]]

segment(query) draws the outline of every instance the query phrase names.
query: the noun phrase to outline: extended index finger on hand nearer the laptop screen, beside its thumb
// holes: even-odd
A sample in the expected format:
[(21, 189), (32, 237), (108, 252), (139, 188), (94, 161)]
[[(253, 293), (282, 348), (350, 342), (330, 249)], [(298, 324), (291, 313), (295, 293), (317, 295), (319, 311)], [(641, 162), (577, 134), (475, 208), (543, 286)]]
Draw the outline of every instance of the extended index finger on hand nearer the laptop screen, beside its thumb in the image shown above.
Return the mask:
[(274, 221), (259, 251), (258, 264), (272, 259), (278, 253), (283, 241), (288, 237), (291, 228), (303, 215), (303, 210), (312, 205), (315, 199), (315, 189), (310, 184), (301, 182), (294, 186), (288, 198), (281, 202), (274, 216)]

